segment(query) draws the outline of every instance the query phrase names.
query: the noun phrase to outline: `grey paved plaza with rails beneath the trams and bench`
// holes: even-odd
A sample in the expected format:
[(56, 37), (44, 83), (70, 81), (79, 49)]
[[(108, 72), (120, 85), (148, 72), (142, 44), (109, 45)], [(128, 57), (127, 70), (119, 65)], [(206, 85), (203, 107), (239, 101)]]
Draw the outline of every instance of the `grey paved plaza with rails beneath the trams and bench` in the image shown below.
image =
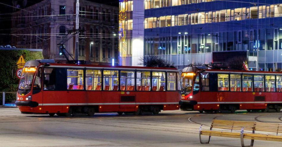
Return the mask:
[[(93, 117), (59, 117), (20, 114), (18, 108), (0, 107), (1, 147), (240, 147), (239, 138), (212, 137), (199, 143), (199, 126), (209, 129), (213, 119), (282, 123), (282, 113), (238, 111), (203, 113), (162, 111), (159, 115), (95, 114)], [(207, 139), (207, 136), (203, 136)], [(250, 140), (245, 140), (249, 143)], [(255, 140), (254, 146), (280, 146), (280, 142)]]

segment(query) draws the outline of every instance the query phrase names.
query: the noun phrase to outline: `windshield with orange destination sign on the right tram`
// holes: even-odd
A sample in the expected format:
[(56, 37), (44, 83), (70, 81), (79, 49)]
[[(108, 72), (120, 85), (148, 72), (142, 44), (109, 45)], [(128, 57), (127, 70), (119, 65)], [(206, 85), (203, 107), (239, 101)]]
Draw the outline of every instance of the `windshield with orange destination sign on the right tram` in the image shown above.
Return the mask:
[(181, 75), (182, 94), (188, 95), (192, 91), (194, 75), (195, 73), (182, 73)]

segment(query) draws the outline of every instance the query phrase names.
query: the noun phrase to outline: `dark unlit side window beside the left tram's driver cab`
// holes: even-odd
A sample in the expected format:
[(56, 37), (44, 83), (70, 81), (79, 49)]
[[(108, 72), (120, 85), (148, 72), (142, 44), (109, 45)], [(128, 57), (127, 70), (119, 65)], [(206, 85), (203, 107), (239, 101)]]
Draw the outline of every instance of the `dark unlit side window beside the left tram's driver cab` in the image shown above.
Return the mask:
[(44, 90), (55, 90), (56, 68), (44, 68)]

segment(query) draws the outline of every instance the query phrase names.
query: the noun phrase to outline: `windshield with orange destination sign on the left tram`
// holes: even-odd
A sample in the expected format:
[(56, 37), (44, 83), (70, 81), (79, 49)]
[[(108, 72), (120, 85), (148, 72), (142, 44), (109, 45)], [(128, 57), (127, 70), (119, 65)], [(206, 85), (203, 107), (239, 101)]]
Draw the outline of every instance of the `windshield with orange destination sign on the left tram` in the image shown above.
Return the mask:
[(19, 93), (27, 94), (31, 90), (32, 80), (36, 71), (35, 66), (24, 67), (23, 73), (20, 77)]

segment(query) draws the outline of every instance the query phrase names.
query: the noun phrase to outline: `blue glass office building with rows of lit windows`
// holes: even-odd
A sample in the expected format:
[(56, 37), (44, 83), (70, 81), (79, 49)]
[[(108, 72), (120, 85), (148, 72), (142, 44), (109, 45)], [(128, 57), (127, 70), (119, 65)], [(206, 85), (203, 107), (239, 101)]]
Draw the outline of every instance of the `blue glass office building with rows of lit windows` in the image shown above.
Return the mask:
[(120, 0), (120, 65), (156, 55), (181, 69), (248, 50), (251, 70), (282, 68), (282, 0)]

